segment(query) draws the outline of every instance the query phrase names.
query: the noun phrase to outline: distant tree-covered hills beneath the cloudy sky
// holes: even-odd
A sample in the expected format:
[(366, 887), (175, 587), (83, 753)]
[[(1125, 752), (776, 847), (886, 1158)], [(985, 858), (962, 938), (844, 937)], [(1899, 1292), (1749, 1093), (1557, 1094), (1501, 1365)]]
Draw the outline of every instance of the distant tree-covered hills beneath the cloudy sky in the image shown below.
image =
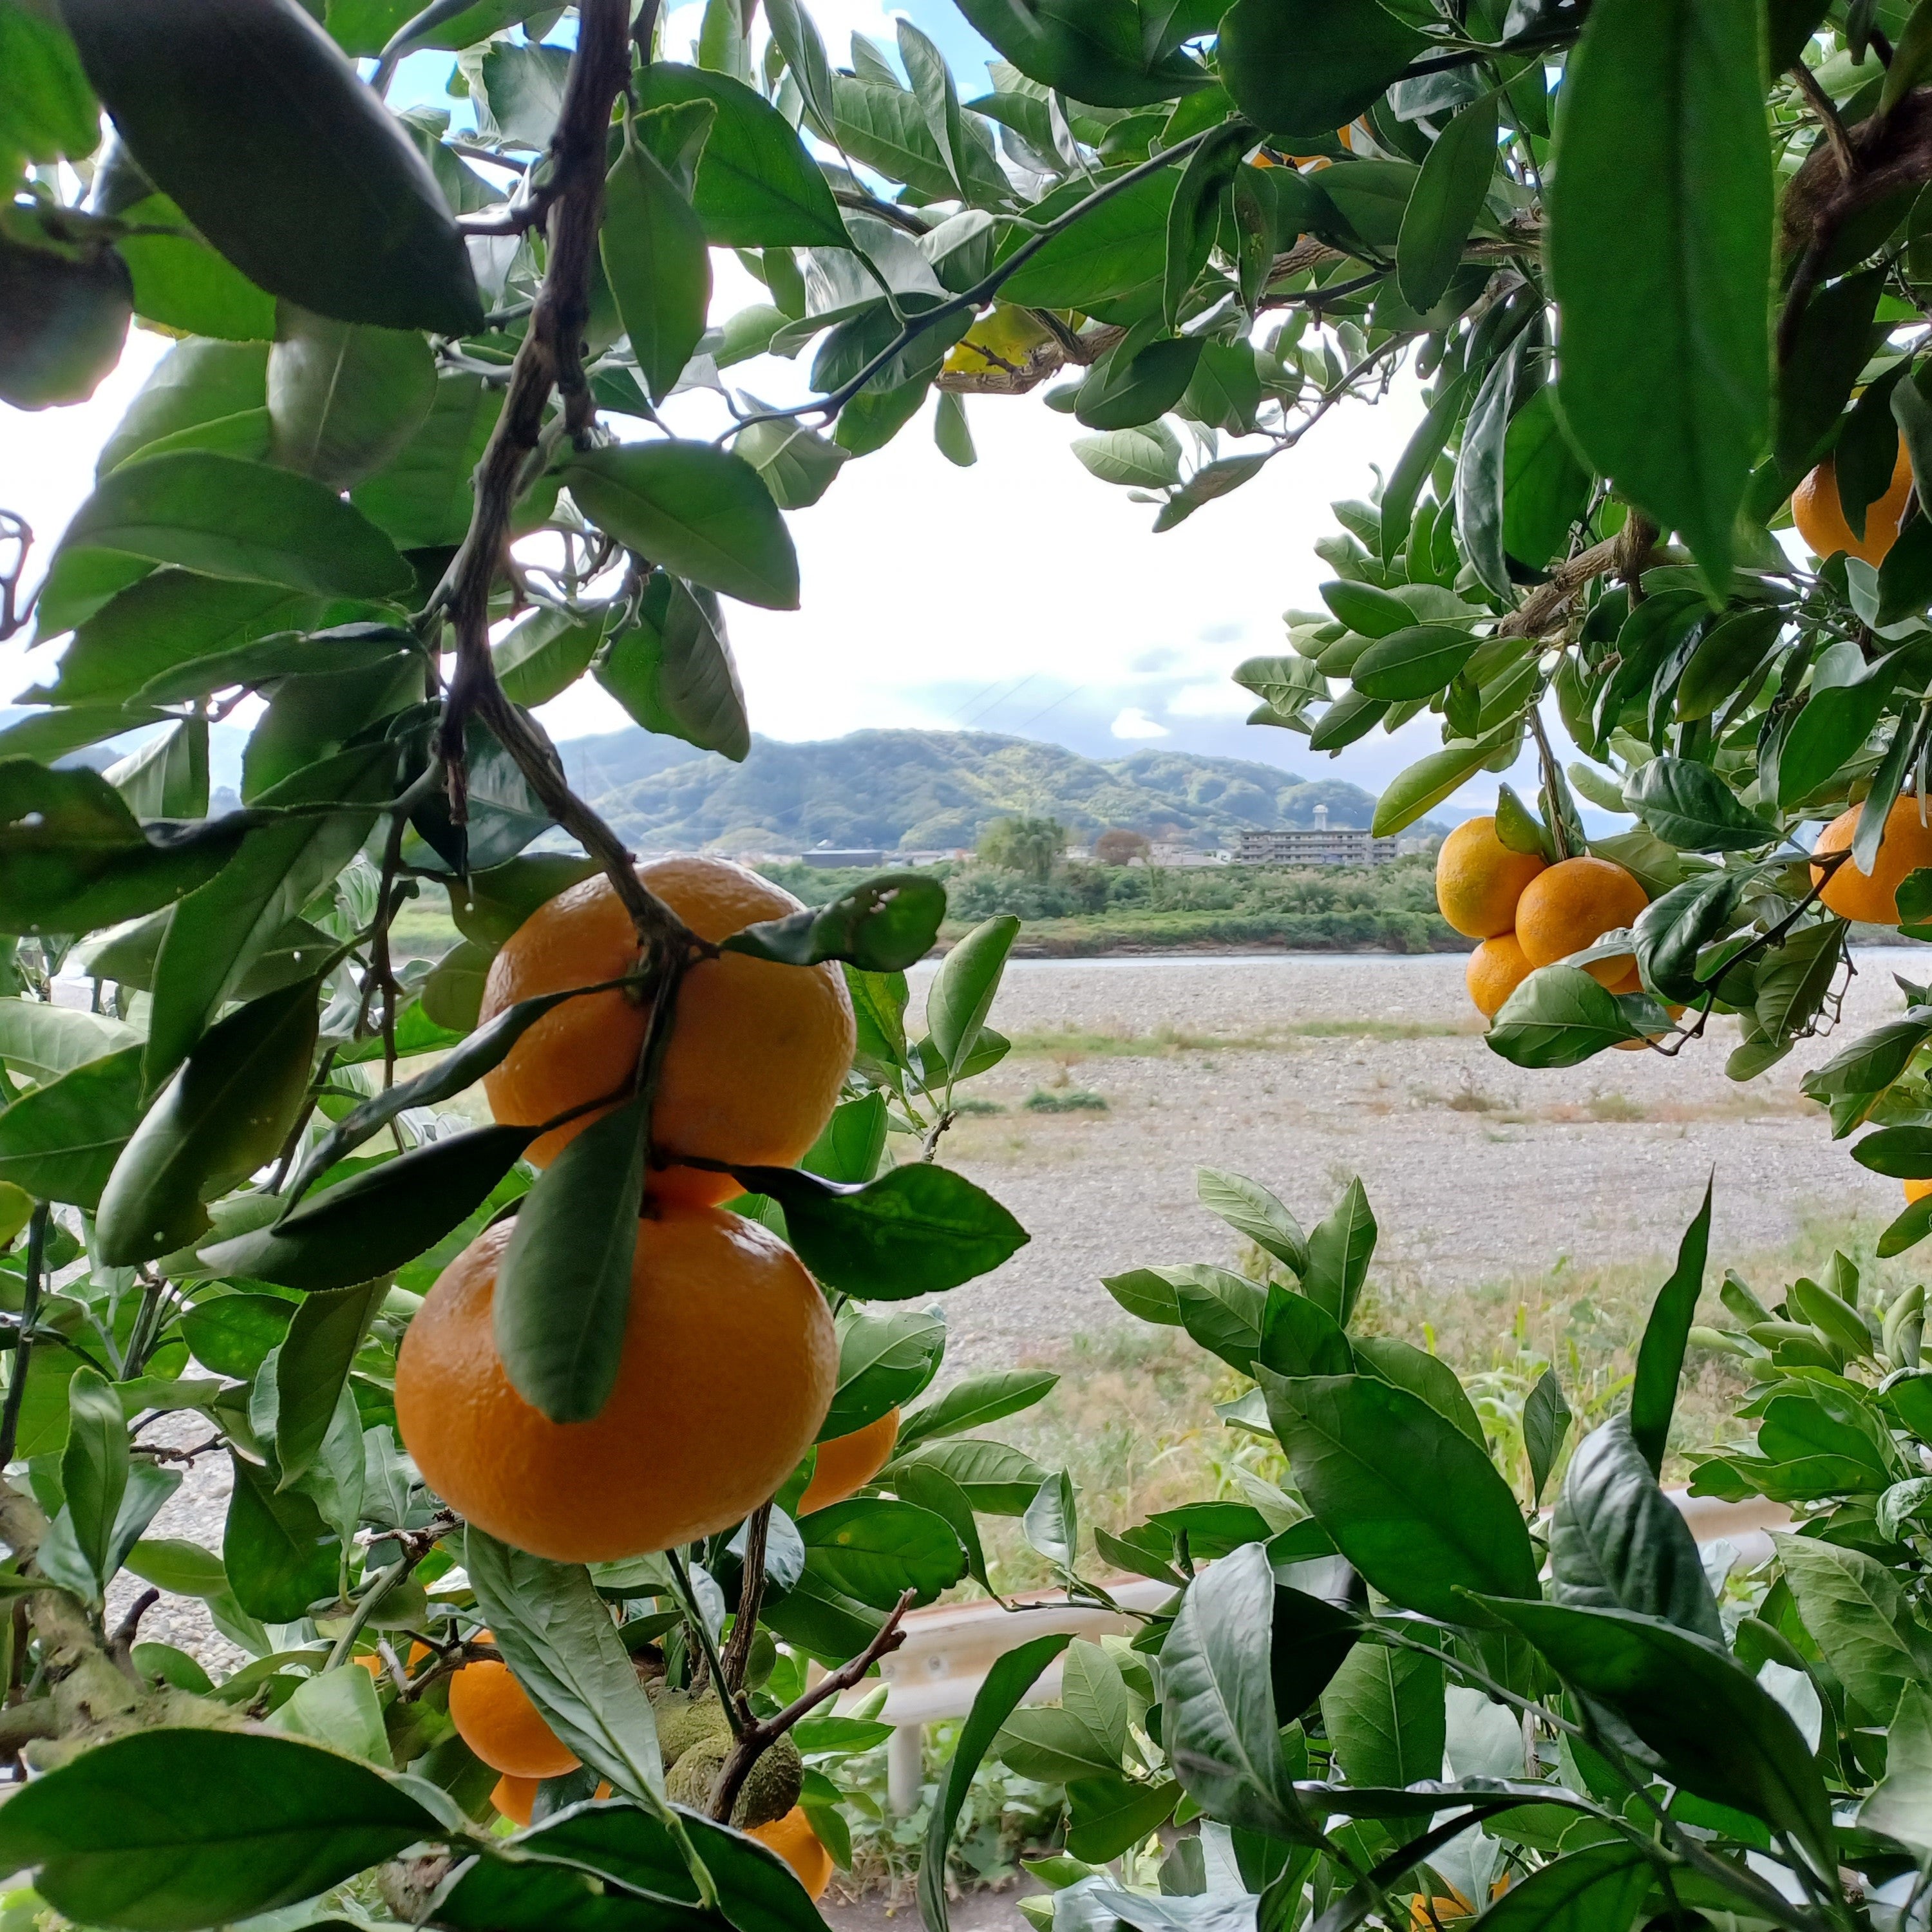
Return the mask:
[(858, 730), (782, 744), (753, 738), (742, 765), (641, 730), (558, 750), (578, 790), (645, 850), (804, 852), (815, 844), (970, 846), (999, 817), (1039, 813), (1090, 835), (1109, 825), (1188, 842), (1242, 827), (1368, 825), (1374, 794), (1339, 779), (1188, 752), (1092, 759), (978, 730)]

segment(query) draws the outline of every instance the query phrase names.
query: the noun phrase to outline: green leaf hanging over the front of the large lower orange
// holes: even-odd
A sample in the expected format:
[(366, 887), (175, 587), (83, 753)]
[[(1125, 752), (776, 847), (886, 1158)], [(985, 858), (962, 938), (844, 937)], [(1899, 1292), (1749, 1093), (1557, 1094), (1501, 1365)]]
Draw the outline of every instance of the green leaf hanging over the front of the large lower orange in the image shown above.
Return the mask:
[(641, 1099), (591, 1121), (537, 1177), (502, 1252), (497, 1352), (553, 1422), (593, 1422), (616, 1383), (647, 1142)]

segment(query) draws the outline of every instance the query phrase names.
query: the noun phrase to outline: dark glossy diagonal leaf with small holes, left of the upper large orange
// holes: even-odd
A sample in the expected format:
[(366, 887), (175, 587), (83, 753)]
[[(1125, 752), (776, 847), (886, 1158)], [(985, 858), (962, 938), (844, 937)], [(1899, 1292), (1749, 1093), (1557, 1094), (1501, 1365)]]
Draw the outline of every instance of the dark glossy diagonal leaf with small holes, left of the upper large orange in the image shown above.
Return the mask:
[(133, 1267), (187, 1246), (209, 1217), (203, 1202), (269, 1165), (309, 1088), (315, 980), (218, 1020), (149, 1107), (100, 1194), (97, 1252)]

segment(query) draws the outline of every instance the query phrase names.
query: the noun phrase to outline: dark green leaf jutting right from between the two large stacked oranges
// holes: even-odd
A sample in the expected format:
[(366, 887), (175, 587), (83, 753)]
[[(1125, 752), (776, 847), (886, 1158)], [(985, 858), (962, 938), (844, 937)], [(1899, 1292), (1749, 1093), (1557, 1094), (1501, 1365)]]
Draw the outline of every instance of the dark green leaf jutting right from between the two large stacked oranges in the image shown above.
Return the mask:
[(734, 1167), (748, 1194), (784, 1209), (798, 1258), (827, 1287), (860, 1300), (904, 1302), (956, 1289), (1026, 1246), (991, 1194), (951, 1167), (893, 1167), (838, 1186), (794, 1167)]

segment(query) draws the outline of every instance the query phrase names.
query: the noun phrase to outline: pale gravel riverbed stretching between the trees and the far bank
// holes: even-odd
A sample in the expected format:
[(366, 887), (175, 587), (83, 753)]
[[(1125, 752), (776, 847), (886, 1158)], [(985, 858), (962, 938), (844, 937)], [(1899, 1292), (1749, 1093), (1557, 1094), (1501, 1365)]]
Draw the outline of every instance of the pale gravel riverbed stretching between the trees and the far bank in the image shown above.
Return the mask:
[[(1897, 1182), (1830, 1140), (1799, 1080), (1893, 1016), (1891, 972), (1928, 960), (1861, 952), (1835, 1037), (1748, 1086), (1723, 1074), (1731, 1020), (1677, 1059), (1519, 1072), (1474, 1030), (1453, 956), (1018, 960), (991, 1024), (1026, 1051), (970, 1090), (1009, 1111), (960, 1121), (947, 1157), (1034, 1238), (945, 1298), (951, 1358), (997, 1364), (1126, 1320), (1101, 1275), (1231, 1260), (1236, 1238), (1194, 1198), (1200, 1163), (1252, 1175), (1304, 1221), (1362, 1175), (1378, 1265), (1424, 1291), (1669, 1254), (1710, 1173), (1719, 1265), (1781, 1246), (1806, 1217), (1889, 1219)], [(1119, 1045), (1092, 1037), (1109, 1034)], [(1107, 1111), (1024, 1109), (1055, 1082)]]

